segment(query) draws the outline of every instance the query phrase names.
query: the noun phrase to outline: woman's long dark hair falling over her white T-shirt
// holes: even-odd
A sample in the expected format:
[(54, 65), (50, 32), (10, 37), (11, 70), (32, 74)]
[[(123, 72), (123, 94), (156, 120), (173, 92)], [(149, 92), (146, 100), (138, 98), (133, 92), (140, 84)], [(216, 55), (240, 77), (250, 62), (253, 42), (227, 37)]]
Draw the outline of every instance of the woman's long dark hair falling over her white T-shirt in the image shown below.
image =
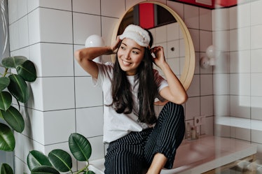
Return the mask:
[[(148, 30), (147, 30), (148, 31)], [(153, 36), (150, 31), (149, 36), (151, 41), (149, 46), (153, 44)], [(154, 99), (157, 94), (158, 87), (153, 75), (153, 60), (149, 48), (145, 48), (144, 58), (141, 64), (137, 68), (137, 80), (139, 82), (138, 100), (139, 100), (139, 120), (148, 124), (156, 122), (156, 114), (154, 110)], [(113, 80), (112, 80), (112, 98), (113, 102), (109, 106), (113, 106), (116, 113), (132, 113), (133, 103), (132, 89), (130, 89), (130, 83), (127, 80), (125, 71), (120, 68), (118, 59), (116, 57), (116, 63), (113, 68)]]

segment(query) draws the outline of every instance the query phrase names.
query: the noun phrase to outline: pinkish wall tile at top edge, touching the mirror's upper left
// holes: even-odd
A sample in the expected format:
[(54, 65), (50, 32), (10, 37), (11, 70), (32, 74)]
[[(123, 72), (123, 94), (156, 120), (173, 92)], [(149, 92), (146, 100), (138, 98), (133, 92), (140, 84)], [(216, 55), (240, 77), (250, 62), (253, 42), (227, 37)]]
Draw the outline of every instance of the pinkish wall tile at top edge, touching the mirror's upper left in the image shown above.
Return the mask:
[(122, 17), (125, 13), (125, 1), (101, 0), (101, 15), (109, 17)]

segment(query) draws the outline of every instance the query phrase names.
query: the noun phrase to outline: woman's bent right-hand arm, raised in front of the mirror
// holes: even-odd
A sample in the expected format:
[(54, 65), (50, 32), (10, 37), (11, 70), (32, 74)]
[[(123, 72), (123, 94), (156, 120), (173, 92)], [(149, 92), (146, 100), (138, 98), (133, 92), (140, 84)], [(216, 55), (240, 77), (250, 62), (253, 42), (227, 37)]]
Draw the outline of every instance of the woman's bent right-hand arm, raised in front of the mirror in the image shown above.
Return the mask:
[(186, 90), (165, 61), (163, 47), (155, 47), (151, 51), (156, 55), (156, 58), (153, 58), (154, 63), (163, 71), (168, 82), (168, 87), (160, 90), (160, 96), (173, 103), (185, 103), (188, 99)]

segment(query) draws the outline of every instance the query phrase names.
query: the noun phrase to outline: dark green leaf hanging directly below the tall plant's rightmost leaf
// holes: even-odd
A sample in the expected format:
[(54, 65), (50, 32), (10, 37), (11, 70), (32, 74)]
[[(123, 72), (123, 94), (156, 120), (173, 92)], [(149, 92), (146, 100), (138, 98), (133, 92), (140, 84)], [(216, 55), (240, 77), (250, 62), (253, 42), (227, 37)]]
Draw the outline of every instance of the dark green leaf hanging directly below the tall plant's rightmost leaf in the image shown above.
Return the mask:
[(25, 80), (17, 74), (9, 75), (8, 78), (10, 79), (10, 84), (8, 85), (9, 92), (18, 101), (26, 103), (29, 99), (29, 89)]

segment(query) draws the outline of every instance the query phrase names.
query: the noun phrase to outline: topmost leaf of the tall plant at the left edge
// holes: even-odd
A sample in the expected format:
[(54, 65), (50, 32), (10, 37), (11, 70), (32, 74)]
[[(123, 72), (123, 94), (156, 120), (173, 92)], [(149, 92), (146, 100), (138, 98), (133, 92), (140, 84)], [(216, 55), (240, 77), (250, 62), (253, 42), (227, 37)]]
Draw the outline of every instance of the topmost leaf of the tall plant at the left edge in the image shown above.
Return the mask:
[(24, 63), (26, 60), (27, 57), (23, 56), (6, 57), (2, 59), (2, 65), (6, 68), (16, 68), (20, 64)]

